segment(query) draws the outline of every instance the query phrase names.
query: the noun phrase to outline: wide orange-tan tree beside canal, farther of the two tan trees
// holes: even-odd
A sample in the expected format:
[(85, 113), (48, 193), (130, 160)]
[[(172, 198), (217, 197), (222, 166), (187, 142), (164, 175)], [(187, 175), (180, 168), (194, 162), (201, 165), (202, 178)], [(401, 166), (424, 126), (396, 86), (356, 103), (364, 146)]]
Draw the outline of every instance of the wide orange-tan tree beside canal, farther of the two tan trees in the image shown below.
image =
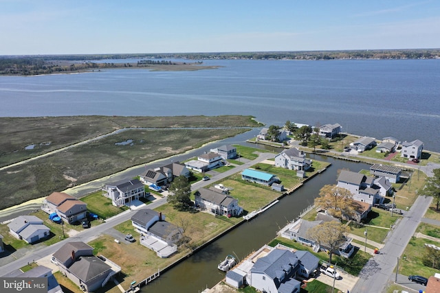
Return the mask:
[(341, 220), (344, 215), (352, 218), (358, 208), (358, 203), (353, 200), (349, 189), (336, 185), (324, 185), (320, 189), (319, 195), (318, 198), (315, 198), (316, 207), (322, 207), (327, 210), (327, 213)]

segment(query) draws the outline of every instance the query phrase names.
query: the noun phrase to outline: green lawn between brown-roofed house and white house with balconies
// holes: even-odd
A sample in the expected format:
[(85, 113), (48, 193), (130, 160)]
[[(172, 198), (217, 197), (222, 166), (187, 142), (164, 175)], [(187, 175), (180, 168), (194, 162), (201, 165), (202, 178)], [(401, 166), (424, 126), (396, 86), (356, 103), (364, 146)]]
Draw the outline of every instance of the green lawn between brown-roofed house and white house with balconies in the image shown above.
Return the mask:
[(111, 199), (102, 195), (102, 191), (96, 191), (81, 198), (87, 204), (87, 210), (91, 213), (96, 213), (100, 219), (107, 219), (118, 215), (122, 211), (129, 209), (128, 207), (115, 207), (111, 204)]

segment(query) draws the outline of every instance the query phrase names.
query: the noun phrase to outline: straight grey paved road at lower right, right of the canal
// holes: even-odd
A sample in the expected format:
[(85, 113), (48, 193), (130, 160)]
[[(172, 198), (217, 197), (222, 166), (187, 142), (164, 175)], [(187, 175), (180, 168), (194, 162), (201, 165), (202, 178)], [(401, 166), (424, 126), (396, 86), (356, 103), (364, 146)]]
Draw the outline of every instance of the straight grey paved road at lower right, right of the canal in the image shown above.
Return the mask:
[(428, 196), (419, 196), (415, 200), (411, 209), (405, 213), (399, 224), (395, 226), (394, 231), (388, 234), (388, 239), (386, 239), (386, 243), (380, 251), (381, 253), (375, 255), (366, 263), (366, 266), (360, 272), (358, 283), (350, 292), (384, 292), (388, 280), (395, 275), (393, 270), (397, 266), (397, 258), (404, 252), (431, 201), (432, 198)]

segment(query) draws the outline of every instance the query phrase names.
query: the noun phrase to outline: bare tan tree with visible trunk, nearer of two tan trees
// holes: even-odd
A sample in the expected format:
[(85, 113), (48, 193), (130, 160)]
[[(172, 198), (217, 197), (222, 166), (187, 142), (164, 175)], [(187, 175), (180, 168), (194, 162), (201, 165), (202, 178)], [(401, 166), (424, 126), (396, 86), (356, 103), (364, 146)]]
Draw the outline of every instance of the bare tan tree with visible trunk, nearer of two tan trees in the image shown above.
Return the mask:
[(307, 231), (307, 235), (318, 242), (320, 246), (329, 250), (329, 262), (331, 263), (333, 253), (347, 241), (347, 237), (345, 237), (347, 232), (348, 228), (340, 222), (330, 221), (314, 226)]

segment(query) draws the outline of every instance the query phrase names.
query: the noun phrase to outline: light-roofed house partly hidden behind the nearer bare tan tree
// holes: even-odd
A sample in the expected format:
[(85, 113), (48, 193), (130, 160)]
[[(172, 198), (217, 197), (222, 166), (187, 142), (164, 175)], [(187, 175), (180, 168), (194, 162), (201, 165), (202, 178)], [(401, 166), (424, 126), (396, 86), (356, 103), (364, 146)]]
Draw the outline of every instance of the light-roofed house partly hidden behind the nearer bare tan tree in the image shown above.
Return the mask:
[[(337, 220), (337, 219), (336, 219)], [(328, 250), (329, 246), (326, 246), (325, 243), (319, 244), (314, 239), (311, 239), (308, 235), (308, 231), (315, 226), (322, 224), (323, 220), (316, 221), (307, 221), (304, 219), (296, 220), (295, 222), (290, 222), (286, 226), (284, 226), (280, 231), (278, 231), (278, 235), (281, 237), (295, 240), (296, 242), (300, 242), (302, 244), (311, 246), (314, 248), (315, 252), (321, 250)], [(351, 238), (345, 237), (344, 243), (338, 247), (334, 253), (336, 255), (340, 255), (341, 257), (349, 258), (354, 253), (354, 246), (351, 244)]]

